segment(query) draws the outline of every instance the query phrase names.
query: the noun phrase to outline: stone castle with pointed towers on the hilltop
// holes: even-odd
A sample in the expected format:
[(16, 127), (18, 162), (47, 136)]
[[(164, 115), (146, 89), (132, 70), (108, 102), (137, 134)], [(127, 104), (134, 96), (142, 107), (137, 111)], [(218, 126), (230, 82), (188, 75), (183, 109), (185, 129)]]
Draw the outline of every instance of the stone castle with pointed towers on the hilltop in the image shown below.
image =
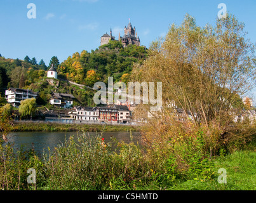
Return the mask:
[[(111, 29), (110, 34), (106, 33), (100, 39), (100, 46), (102, 46), (104, 44), (108, 44), (110, 40), (115, 41), (116, 37), (112, 36)], [(128, 27), (125, 26), (125, 35), (121, 37), (119, 32), (118, 41), (121, 41), (123, 47), (128, 46), (128, 44), (136, 44), (137, 46), (140, 46), (140, 37), (138, 37), (135, 27), (131, 26), (130, 20), (128, 23)]]

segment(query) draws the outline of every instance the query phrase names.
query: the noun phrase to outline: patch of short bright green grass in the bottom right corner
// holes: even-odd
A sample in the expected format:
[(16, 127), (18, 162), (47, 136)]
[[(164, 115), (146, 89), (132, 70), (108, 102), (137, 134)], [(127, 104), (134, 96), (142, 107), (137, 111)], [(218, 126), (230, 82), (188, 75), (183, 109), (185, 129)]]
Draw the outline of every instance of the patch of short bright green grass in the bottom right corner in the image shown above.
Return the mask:
[[(213, 160), (213, 180), (177, 180), (168, 190), (256, 190), (256, 150), (239, 150)], [(217, 181), (218, 170), (227, 171), (227, 183)]]

